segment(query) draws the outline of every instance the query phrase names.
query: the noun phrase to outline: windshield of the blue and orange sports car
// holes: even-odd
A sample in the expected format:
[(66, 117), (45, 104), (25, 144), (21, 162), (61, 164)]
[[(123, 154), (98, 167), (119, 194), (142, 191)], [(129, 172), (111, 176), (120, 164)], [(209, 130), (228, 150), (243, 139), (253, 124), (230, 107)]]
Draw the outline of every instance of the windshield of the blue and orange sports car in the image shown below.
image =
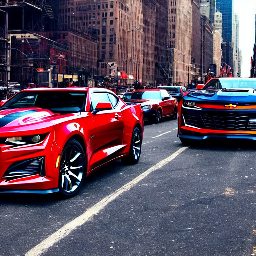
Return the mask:
[(256, 79), (213, 79), (203, 89), (219, 90), (224, 88), (253, 88), (256, 89)]

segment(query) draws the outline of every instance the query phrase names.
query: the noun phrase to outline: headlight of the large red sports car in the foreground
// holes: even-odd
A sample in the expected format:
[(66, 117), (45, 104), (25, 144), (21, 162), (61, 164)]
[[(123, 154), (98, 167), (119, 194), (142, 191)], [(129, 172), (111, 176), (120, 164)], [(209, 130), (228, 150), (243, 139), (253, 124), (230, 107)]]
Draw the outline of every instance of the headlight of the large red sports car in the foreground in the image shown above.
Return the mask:
[(31, 136), (16, 136), (16, 137), (8, 137), (5, 139), (5, 143), (7, 145), (25, 145), (25, 144), (35, 144), (42, 142), (47, 134), (37, 134)]

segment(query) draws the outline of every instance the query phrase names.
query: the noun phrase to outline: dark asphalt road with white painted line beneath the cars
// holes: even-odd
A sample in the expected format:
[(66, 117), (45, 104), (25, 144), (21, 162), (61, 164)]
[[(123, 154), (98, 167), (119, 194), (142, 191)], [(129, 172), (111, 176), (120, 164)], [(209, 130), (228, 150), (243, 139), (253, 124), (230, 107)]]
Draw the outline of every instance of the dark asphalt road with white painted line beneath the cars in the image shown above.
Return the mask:
[(185, 148), (176, 128), (170, 119), (146, 124), (139, 163), (95, 172), (73, 198), (1, 194), (0, 255), (253, 254), (256, 145)]

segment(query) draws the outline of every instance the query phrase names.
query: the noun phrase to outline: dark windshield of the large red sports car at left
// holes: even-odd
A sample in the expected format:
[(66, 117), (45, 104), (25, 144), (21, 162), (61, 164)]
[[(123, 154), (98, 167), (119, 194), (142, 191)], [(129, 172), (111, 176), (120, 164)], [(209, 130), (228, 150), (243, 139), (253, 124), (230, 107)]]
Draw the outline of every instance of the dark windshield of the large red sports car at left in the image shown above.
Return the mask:
[(33, 108), (49, 109), (56, 113), (75, 113), (84, 110), (86, 92), (32, 91), (20, 92), (1, 109)]

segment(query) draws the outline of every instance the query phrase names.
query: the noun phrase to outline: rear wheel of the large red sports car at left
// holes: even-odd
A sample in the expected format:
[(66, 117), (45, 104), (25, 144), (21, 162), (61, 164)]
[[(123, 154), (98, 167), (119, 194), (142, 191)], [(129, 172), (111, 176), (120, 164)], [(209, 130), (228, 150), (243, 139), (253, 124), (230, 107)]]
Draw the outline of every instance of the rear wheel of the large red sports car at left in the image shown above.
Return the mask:
[(138, 127), (135, 127), (132, 132), (131, 146), (129, 155), (122, 158), (122, 162), (125, 164), (137, 164), (141, 155), (142, 137)]

